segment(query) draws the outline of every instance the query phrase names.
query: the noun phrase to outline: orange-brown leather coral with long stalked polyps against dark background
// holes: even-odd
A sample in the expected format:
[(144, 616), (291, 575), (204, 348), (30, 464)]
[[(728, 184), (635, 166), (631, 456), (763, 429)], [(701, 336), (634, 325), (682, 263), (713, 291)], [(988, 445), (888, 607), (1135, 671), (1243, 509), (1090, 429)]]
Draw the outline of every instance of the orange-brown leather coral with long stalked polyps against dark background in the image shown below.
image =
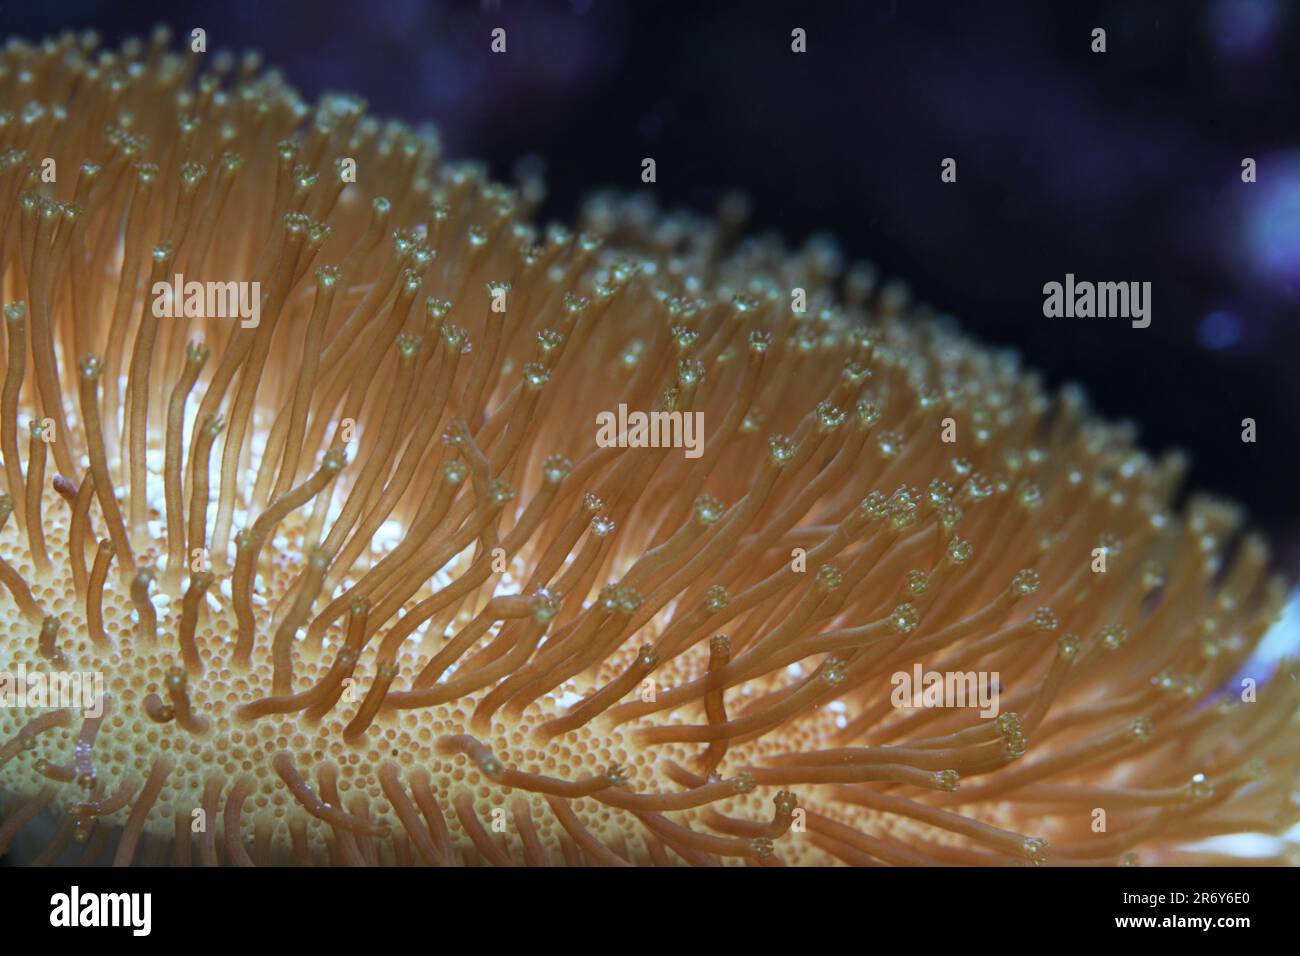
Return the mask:
[(0, 669), (101, 679), (0, 708), (0, 852), (1212, 864), (1294, 823), (1300, 683), (1236, 683), (1284, 589), (1178, 457), (826, 243), (540, 232), (360, 99), (96, 43), (0, 53)]

